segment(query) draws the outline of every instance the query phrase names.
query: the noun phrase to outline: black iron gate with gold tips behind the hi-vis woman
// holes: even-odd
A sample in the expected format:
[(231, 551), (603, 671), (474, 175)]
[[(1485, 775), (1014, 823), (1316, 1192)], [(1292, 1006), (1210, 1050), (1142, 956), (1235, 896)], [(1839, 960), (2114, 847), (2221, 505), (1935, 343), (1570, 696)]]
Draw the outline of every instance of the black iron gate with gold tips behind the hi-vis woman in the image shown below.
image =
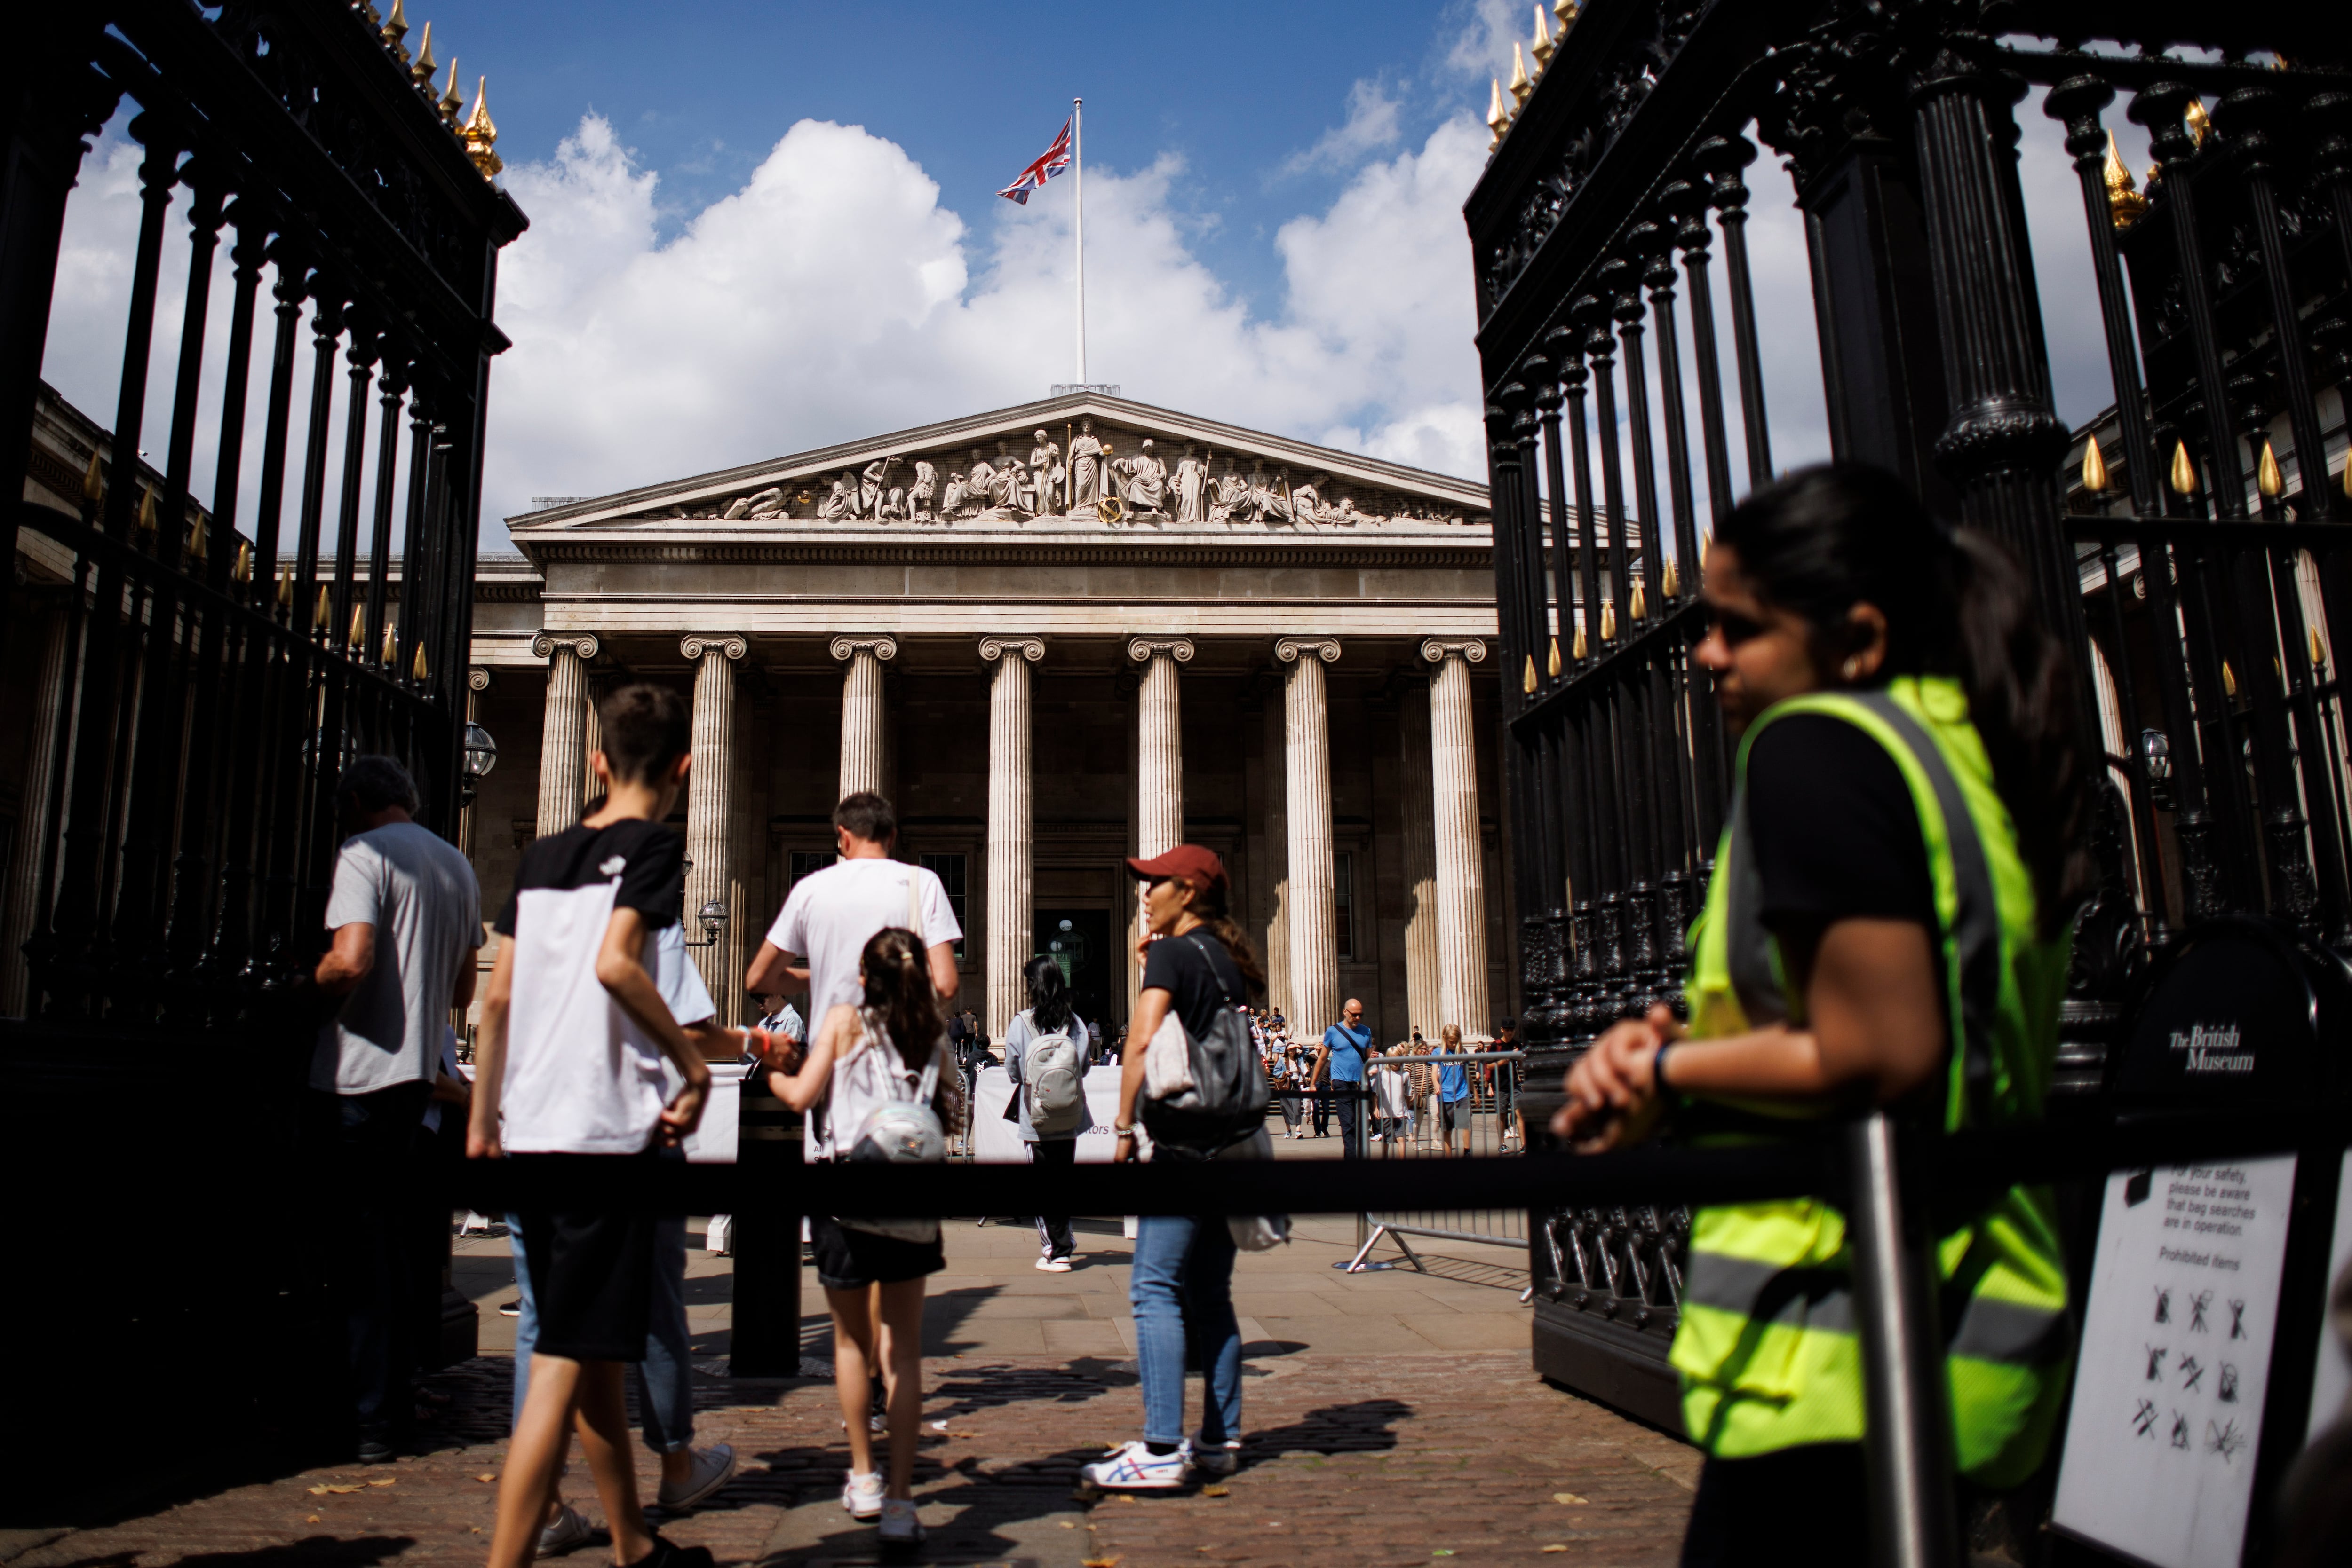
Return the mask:
[[(2060, 1088), (2190, 922), (2352, 940), (2352, 71), (2300, 7), (1573, 0), (1465, 209), (1522, 825), (1524, 1044), (1679, 1004), (1729, 752), (1703, 541), (1773, 473), (1750, 181), (1795, 197), (1830, 444), (2027, 564), (2100, 717)], [(2063, 132), (2112, 404), (2051, 395), (2018, 106)], [(2145, 127), (2140, 190), (2110, 141)], [(1757, 143), (1788, 186), (1757, 174)], [(1715, 273), (1722, 268), (1722, 275)], [(1689, 353), (1684, 353), (1689, 343)], [(2352, 649), (2352, 642), (2347, 642)], [(1534, 1070), (1543, 1081), (1552, 1077)], [(1552, 1079), (1557, 1081), (1557, 1079)], [(1531, 1110), (1534, 1114), (1534, 1110)], [(2053, 1114), (2067, 1114), (2060, 1105)], [(1686, 1220), (1538, 1215), (1538, 1361), (1672, 1420)]]

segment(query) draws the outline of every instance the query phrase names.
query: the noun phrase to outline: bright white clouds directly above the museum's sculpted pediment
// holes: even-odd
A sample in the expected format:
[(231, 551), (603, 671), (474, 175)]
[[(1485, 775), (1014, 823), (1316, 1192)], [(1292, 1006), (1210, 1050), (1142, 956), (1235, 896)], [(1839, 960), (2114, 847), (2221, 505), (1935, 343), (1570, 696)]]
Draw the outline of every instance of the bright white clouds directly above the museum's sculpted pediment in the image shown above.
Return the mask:
[[(1277, 235), (1254, 317), (1185, 247), (1183, 167), (1089, 169), (1089, 378), (1129, 397), (1477, 473), (1461, 202), (1468, 118), (1364, 167)], [(1070, 186), (978, 242), (863, 127), (804, 120), (743, 190), (656, 240), (659, 176), (590, 115), (508, 188), (485, 515), (1042, 397), (1070, 381)]]

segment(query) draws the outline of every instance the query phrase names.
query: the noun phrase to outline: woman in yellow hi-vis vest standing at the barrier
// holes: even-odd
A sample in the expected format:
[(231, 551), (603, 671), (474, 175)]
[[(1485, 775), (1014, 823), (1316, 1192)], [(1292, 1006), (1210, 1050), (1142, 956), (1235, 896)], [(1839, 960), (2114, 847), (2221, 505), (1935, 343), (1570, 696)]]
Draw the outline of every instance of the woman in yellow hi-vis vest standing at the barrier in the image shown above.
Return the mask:
[[(2018, 567), (1893, 475), (1792, 473), (1724, 522), (1698, 663), (1740, 736), (1679, 1025), (1611, 1027), (1552, 1131), (1691, 1143), (1884, 1105), (2039, 1119), (2089, 884), (2074, 677)], [(2042, 1462), (2065, 1385), (2046, 1190), (1940, 1215), (1952, 1450), (1980, 1488)], [(1691, 1215), (1672, 1361), (1705, 1453), (1684, 1563), (1863, 1563), (1863, 1368), (1844, 1215)]]

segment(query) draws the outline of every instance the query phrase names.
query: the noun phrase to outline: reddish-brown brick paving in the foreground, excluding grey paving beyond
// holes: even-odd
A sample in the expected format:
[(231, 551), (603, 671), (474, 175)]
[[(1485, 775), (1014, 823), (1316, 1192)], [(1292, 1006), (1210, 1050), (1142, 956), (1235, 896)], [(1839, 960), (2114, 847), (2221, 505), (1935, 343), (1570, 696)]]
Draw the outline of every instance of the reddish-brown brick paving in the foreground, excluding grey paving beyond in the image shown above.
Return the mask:
[[(1249, 1373), (1242, 1472), (1223, 1495), (1089, 1505), (1073, 1500), (1077, 1465), (1141, 1425), (1131, 1361), (927, 1361), (924, 1418), (946, 1434), (924, 1432), (917, 1493), (934, 1544), (917, 1561), (1011, 1561), (1014, 1540), (1037, 1568), (1675, 1561), (1696, 1476), (1689, 1448), (1543, 1385), (1526, 1352), (1261, 1354)], [(503, 1460), (508, 1361), (480, 1356), (435, 1387), (452, 1401), (421, 1458), (233, 1486), (40, 1544), (19, 1537), (31, 1549), (0, 1556), (9, 1568), (477, 1563), (496, 1495), (480, 1476)], [(1192, 1396), (1197, 1410), (1197, 1385)], [(710, 1505), (668, 1521), (673, 1540), (708, 1544), (722, 1563), (842, 1561), (844, 1549), (875, 1561), (833, 1502), (847, 1443), (830, 1382), (703, 1375), (699, 1410), (696, 1441), (734, 1443), (743, 1469)], [(649, 1497), (652, 1458), (637, 1453)], [(322, 1486), (355, 1490), (313, 1490)], [(581, 1465), (569, 1495), (595, 1516)], [(990, 1528), (957, 1533), (957, 1516)], [(811, 1530), (830, 1544), (809, 1549)], [(609, 1552), (569, 1561), (590, 1568)]]

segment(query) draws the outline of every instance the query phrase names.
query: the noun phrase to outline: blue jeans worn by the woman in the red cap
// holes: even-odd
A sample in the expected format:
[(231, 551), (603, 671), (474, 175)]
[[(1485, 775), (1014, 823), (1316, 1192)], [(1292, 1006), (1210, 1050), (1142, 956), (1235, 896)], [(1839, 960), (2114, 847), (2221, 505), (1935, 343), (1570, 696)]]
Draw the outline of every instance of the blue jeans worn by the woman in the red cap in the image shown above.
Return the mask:
[(1127, 1302), (1136, 1309), (1143, 1373), (1143, 1441), (1183, 1441), (1185, 1349), (1195, 1349), (1207, 1392), (1200, 1436), (1242, 1436), (1242, 1326), (1232, 1316), (1232, 1232), (1223, 1215), (1136, 1220)]

